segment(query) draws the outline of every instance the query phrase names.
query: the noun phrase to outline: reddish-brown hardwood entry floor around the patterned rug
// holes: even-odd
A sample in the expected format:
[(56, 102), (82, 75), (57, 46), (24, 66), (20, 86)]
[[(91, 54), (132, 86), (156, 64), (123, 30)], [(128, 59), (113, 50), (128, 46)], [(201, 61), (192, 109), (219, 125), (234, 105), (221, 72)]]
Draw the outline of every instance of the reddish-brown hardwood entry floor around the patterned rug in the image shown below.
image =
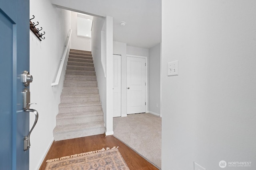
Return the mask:
[(63, 141), (54, 141), (39, 170), (44, 170), (46, 160), (48, 159), (99, 150), (106, 147), (119, 147), (118, 150), (122, 154), (122, 157), (130, 170), (158, 170), (158, 168), (150, 164), (150, 162), (142, 158), (139, 154), (127, 147), (114, 136), (105, 137), (104, 134)]

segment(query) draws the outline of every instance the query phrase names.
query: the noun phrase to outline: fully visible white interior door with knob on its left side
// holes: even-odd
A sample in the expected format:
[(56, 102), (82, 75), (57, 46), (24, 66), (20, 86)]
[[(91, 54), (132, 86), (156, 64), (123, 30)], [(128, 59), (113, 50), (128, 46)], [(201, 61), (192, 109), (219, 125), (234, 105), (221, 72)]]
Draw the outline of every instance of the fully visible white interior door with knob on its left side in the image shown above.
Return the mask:
[(146, 59), (127, 57), (127, 114), (146, 112)]

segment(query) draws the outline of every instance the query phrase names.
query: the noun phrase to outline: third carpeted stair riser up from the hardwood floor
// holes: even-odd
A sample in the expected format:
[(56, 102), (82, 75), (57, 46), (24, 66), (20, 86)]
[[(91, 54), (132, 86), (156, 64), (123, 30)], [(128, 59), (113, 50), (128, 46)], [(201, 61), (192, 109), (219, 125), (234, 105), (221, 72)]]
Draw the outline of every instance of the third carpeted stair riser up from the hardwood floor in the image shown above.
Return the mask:
[(59, 113), (82, 112), (93, 110), (101, 110), (101, 106), (61, 107), (59, 108)]

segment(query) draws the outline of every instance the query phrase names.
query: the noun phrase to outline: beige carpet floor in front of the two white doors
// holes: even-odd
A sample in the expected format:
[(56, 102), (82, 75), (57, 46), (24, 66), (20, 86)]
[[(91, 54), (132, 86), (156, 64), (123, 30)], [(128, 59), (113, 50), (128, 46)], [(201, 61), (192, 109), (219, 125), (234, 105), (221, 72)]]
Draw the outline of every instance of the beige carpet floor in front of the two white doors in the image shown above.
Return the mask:
[(150, 113), (114, 117), (114, 136), (161, 168), (162, 119)]

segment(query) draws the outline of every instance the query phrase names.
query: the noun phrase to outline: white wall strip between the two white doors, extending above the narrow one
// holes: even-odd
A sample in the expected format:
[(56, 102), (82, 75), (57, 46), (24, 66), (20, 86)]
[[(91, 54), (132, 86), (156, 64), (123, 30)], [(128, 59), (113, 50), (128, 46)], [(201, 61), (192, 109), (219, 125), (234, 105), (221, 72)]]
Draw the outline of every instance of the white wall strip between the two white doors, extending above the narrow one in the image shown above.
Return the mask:
[(126, 43), (114, 41), (113, 54), (121, 55), (121, 116), (126, 117)]

